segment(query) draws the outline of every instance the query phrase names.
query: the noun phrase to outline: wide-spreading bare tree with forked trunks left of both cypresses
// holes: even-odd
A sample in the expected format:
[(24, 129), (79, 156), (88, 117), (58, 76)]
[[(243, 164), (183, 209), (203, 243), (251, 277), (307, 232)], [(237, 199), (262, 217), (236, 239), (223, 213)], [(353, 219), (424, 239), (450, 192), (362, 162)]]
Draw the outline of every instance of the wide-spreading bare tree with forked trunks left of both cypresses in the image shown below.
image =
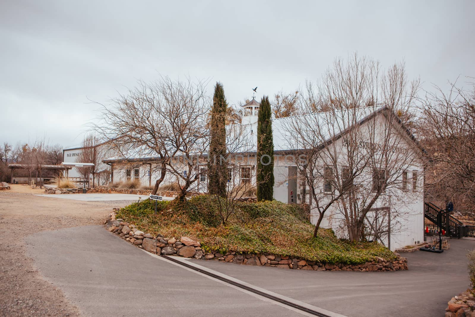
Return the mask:
[[(161, 77), (138, 85), (103, 105), (93, 129), (108, 140), (115, 156), (131, 166), (150, 164), (132, 157), (149, 157), (160, 173), (156, 193), (167, 173), (180, 183), (180, 199), (198, 180), (198, 157), (207, 149), (209, 99), (204, 82)], [(174, 161), (171, 159), (175, 158)]]

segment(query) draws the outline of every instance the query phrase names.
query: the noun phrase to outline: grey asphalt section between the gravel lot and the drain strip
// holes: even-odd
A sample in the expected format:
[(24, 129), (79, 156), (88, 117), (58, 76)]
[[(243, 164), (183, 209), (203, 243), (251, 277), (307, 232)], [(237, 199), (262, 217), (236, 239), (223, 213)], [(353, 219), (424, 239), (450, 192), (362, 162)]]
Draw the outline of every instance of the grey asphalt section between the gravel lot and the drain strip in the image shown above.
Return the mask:
[(84, 316), (301, 316), (161, 259), (101, 226), (26, 238), (42, 275)]

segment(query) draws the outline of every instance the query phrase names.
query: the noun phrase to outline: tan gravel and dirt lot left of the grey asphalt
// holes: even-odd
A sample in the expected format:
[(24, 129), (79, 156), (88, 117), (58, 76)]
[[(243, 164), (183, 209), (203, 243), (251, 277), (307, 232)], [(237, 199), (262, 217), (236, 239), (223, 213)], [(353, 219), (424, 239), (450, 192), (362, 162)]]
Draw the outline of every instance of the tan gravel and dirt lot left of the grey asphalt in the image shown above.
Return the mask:
[(82, 202), (34, 193), (44, 190), (13, 185), (0, 191), (0, 226), (5, 233), (0, 243), (0, 316), (80, 316), (63, 292), (32, 265), (24, 238), (38, 231), (100, 224), (112, 208), (131, 201)]

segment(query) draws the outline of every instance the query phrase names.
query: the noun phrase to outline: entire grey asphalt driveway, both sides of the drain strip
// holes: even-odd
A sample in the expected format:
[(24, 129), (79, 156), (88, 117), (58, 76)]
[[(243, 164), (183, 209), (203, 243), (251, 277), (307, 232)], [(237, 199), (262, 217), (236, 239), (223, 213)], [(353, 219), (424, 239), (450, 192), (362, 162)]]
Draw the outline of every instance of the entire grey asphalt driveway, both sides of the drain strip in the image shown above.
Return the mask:
[[(85, 316), (293, 316), (295, 312), (154, 258), (101, 226), (43, 231), (26, 239), (35, 266)], [(443, 316), (469, 286), (466, 250), (407, 254), (409, 271), (315, 272), (192, 260), (346, 316)]]

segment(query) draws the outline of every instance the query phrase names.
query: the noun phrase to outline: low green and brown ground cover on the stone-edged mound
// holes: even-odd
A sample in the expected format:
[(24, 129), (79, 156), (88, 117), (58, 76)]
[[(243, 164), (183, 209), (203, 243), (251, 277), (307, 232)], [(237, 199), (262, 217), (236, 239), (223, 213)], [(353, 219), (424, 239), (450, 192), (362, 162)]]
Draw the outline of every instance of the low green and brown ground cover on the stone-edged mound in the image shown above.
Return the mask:
[(238, 202), (236, 212), (222, 225), (217, 198), (209, 195), (155, 202), (145, 200), (120, 209), (117, 218), (140, 230), (164, 237), (187, 236), (201, 242), (204, 250), (272, 253), (322, 263), (359, 264), (376, 256), (386, 260), (396, 256), (377, 242), (350, 242), (336, 238), (332, 230), (314, 228), (304, 219), (299, 205), (277, 201)]

